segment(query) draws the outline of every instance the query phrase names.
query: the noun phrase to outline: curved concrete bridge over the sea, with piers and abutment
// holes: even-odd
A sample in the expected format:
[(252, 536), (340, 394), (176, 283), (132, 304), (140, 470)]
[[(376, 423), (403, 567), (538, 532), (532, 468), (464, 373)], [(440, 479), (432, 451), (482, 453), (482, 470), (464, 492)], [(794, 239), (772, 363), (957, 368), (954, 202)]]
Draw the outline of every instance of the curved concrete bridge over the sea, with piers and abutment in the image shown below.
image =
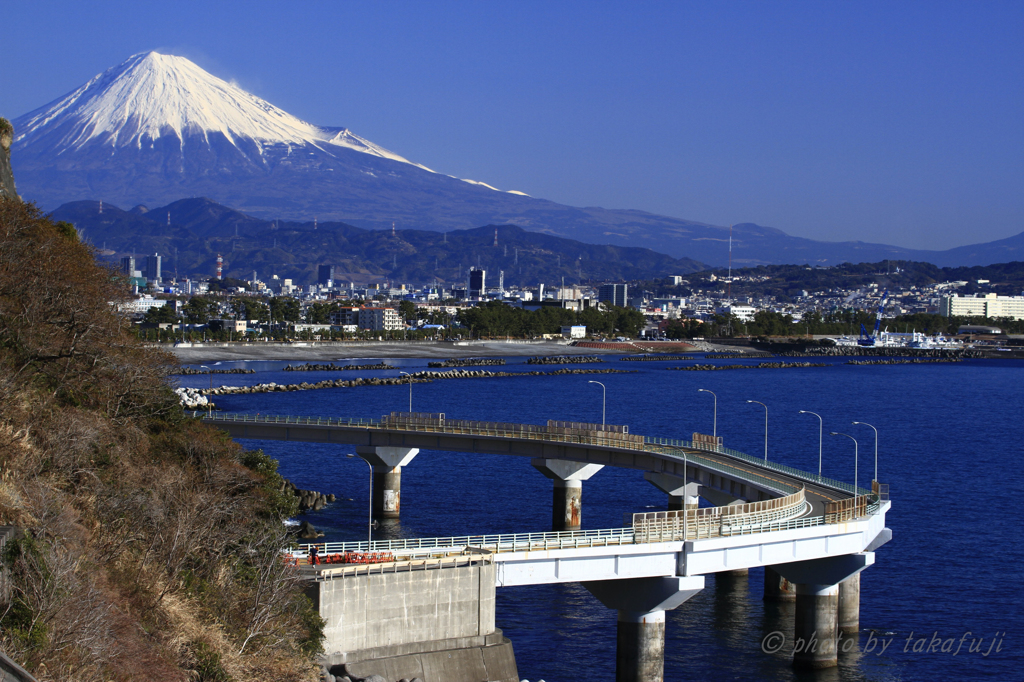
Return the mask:
[[(328, 664), (353, 674), (383, 670), (387, 659), (398, 677), (428, 670), (451, 676), (455, 671), (431, 651), (447, 650), (451, 659), (455, 649), (481, 652), (462, 660), (463, 669), (511, 680), (514, 662), (509, 671), (495, 653), (502, 642), (495, 638), (494, 589), (580, 582), (618, 612), (616, 679), (662, 680), (665, 611), (699, 592), (708, 573), (756, 566), (766, 568), (766, 599), (796, 601), (793, 641), (802, 646), (795, 666), (836, 666), (838, 630), (858, 628), (859, 573), (891, 538), (890, 502), (878, 481), (854, 488), (701, 434), (682, 441), (623, 426), (420, 413), (381, 420), (217, 414), (204, 421), (238, 438), (354, 446), (374, 467), (374, 511), (383, 516), (398, 516), (401, 469), (420, 450), (529, 457), (553, 480), (553, 532), (317, 545), (325, 557), (372, 557), (369, 564), (302, 568), (328, 621)], [(583, 482), (604, 466), (644, 471), (669, 495), (669, 511), (634, 514), (621, 528), (580, 530)], [(698, 498), (715, 506), (699, 508)], [(456, 578), (443, 587), (441, 574)], [(373, 662), (377, 668), (359, 668)]]

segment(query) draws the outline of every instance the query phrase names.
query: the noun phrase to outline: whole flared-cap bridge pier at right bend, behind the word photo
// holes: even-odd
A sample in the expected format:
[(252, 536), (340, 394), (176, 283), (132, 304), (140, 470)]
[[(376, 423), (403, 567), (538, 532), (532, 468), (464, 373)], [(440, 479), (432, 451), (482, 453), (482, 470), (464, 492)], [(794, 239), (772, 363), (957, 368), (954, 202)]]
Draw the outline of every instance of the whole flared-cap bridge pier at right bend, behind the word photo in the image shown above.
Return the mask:
[(803, 669), (835, 668), (838, 665), (839, 584), (874, 563), (873, 552), (774, 566), (797, 586), (793, 666)]

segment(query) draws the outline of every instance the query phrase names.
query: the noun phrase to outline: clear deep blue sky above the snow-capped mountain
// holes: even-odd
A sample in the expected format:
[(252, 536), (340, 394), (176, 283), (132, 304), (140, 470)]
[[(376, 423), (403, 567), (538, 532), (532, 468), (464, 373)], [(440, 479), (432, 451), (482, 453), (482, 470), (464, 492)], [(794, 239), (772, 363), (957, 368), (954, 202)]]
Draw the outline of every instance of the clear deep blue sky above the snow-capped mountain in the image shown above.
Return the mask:
[(1024, 230), (1021, 2), (34, 0), (2, 15), (8, 118), (156, 49), (563, 204), (930, 249)]

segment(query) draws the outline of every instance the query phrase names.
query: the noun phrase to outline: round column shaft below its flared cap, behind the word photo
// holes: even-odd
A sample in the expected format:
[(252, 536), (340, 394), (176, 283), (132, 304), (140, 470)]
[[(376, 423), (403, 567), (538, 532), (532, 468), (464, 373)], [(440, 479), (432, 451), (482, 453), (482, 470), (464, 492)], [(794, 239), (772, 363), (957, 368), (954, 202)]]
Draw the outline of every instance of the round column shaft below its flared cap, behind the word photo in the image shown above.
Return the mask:
[(797, 584), (797, 613), (793, 633), (794, 668), (816, 670), (838, 665), (839, 586)]

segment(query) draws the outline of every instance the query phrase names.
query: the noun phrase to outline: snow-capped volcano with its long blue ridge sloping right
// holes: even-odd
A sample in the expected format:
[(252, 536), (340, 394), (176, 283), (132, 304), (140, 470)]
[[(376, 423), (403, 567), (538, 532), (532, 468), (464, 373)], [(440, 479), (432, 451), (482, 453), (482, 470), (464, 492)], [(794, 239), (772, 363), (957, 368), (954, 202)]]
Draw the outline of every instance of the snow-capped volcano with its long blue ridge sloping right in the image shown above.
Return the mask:
[[(436, 173), (346, 128), (302, 121), (183, 57), (148, 52), (13, 121), (22, 196), (45, 209), (83, 200), (162, 206), (209, 197), (248, 215), (446, 231), (515, 224), (589, 244), (729, 262), (730, 229), (636, 210), (577, 208)], [(1016, 253), (1022, 236), (947, 252), (827, 243), (742, 223), (735, 265), (964, 259)]]

